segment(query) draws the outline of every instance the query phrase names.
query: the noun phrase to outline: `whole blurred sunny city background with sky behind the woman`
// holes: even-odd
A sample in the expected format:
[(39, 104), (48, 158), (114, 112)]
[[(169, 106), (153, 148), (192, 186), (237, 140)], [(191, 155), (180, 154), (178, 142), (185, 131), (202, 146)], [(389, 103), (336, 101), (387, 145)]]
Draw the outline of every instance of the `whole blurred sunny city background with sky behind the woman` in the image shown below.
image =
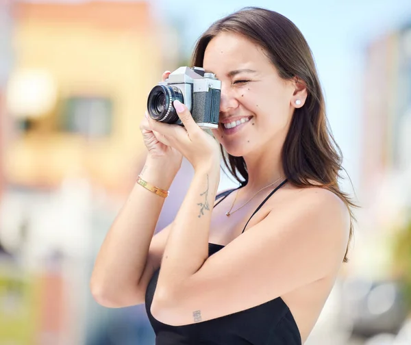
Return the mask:
[[(410, 0), (0, 0), (0, 345), (154, 344), (143, 305), (92, 299), (92, 266), (145, 159), (149, 90), (247, 5), (306, 36), (361, 206), (306, 344), (411, 344)], [(190, 174), (184, 162), (158, 229)]]

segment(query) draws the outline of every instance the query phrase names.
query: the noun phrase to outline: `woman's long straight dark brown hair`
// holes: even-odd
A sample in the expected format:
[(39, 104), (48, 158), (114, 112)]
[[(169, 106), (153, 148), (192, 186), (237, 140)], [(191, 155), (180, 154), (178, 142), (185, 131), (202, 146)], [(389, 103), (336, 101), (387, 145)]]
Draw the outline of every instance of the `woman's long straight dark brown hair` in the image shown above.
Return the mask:
[[(264, 49), (282, 79), (297, 77), (306, 83), (306, 103), (295, 109), (282, 147), (284, 173), (295, 186), (327, 188), (344, 201), (350, 214), (350, 243), (355, 220), (352, 208), (356, 205), (338, 186), (343, 155), (329, 130), (314, 58), (303, 34), (282, 14), (263, 8), (244, 8), (216, 21), (199, 38), (192, 55), (192, 66), (203, 66), (208, 43), (221, 32), (241, 34), (256, 42)], [(229, 155), (222, 145), (221, 152), (229, 172), (242, 185), (247, 184), (244, 158)], [(348, 247), (344, 262), (348, 261)]]

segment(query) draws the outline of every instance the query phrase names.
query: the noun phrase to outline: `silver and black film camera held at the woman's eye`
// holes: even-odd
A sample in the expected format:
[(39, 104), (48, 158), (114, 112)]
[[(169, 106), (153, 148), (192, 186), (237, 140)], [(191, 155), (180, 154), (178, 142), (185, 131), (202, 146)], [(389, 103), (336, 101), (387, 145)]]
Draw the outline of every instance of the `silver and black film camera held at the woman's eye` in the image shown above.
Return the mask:
[(179, 67), (149, 93), (147, 111), (153, 120), (182, 125), (173, 101), (184, 103), (203, 129), (219, 127), (221, 81), (201, 67)]

